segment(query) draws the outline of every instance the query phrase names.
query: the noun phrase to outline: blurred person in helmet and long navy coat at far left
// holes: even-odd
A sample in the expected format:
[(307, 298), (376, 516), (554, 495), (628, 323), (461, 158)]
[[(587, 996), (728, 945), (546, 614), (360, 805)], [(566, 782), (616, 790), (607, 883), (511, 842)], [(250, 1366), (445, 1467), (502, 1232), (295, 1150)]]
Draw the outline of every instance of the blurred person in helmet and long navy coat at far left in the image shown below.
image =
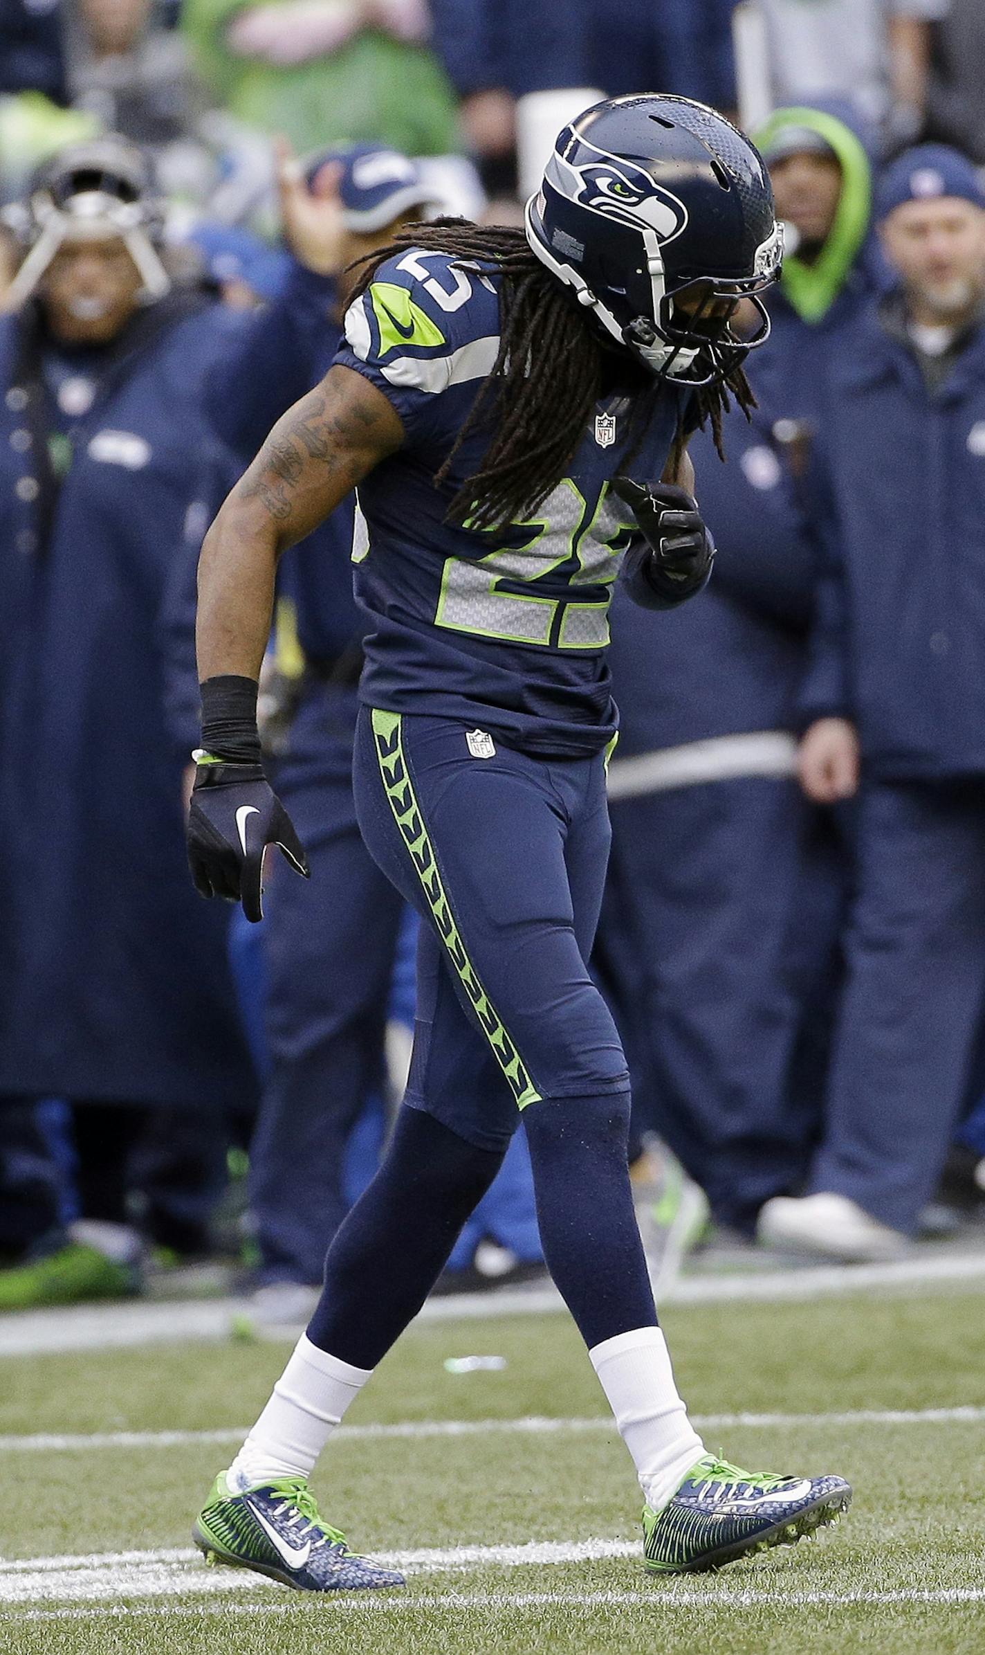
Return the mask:
[[(210, 1120), (221, 1188), (221, 1117), (255, 1094), (228, 917), (188, 889), (159, 654), (235, 319), (172, 283), (144, 157), (117, 137), (41, 170), (25, 240), (0, 318), (0, 1205), (30, 1200), (3, 1309), (132, 1291), (137, 1162)], [(69, 1236), (31, 1130), (50, 1097), (73, 1106)], [(174, 1220), (149, 1205), (152, 1238), (183, 1246)]]

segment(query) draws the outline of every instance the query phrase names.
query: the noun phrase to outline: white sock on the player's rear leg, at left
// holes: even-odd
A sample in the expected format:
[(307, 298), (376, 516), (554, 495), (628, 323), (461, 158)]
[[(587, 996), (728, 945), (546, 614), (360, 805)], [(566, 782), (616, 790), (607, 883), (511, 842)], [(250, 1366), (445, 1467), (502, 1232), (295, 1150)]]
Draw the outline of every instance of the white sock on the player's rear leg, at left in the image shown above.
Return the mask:
[(273, 1397), (226, 1471), (243, 1493), (283, 1476), (311, 1476), (314, 1461), (372, 1369), (352, 1367), (301, 1334)]

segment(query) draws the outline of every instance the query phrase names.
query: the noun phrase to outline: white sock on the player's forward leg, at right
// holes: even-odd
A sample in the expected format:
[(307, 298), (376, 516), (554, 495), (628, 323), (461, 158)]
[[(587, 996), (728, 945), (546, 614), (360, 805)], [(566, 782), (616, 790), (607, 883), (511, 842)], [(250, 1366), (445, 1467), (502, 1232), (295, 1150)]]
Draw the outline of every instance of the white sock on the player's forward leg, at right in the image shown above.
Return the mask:
[(633, 1456), (646, 1504), (661, 1511), (704, 1453), (678, 1395), (666, 1339), (659, 1327), (635, 1327), (603, 1339), (588, 1355)]

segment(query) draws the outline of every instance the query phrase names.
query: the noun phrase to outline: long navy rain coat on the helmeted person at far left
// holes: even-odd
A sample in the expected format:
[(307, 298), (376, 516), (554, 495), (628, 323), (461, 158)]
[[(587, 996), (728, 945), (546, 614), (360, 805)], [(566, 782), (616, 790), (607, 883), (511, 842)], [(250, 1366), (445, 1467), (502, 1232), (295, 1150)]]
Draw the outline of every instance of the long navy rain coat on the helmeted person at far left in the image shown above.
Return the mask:
[(228, 909), (188, 875), (159, 650), (202, 379), (233, 323), (183, 296), (154, 311), (74, 422), (56, 493), (25, 319), (0, 323), (0, 1094), (243, 1107)]

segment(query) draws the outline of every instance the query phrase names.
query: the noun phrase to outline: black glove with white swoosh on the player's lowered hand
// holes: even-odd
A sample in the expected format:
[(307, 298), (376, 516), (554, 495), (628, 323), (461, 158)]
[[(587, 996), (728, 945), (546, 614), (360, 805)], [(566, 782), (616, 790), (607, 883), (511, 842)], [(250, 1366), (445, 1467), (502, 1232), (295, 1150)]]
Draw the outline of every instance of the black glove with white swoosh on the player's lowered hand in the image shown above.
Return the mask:
[(263, 919), (268, 844), (284, 852), (294, 872), (311, 877), (304, 846), (263, 765), (197, 765), (188, 809), (188, 866), (200, 895), (241, 902), (248, 920)]

